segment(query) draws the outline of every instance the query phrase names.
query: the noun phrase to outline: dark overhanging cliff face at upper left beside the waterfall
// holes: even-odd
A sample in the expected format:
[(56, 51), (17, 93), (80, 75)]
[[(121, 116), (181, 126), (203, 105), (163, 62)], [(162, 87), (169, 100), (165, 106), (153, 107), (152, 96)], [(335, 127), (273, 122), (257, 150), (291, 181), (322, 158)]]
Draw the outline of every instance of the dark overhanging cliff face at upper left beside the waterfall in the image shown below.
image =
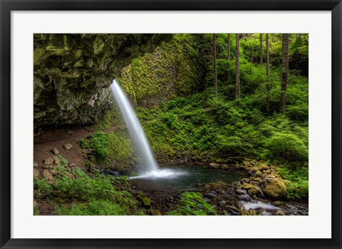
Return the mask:
[(34, 34), (34, 128), (98, 121), (108, 86), (170, 34)]

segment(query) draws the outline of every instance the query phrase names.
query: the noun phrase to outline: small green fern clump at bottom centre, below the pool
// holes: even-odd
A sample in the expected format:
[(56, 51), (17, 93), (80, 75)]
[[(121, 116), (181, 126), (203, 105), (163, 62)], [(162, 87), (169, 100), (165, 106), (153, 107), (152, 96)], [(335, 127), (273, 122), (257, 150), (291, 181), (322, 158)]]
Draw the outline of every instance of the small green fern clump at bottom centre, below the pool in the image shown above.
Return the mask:
[(202, 195), (196, 192), (185, 192), (180, 197), (180, 205), (168, 215), (216, 215), (216, 211), (206, 203)]

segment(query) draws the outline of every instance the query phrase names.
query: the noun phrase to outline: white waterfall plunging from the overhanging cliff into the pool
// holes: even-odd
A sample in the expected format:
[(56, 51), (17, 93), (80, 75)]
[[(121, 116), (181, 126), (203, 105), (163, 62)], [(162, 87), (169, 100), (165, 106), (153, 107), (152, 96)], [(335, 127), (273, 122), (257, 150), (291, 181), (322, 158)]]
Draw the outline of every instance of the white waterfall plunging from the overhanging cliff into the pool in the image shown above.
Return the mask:
[(138, 117), (136, 116), (133, 107), (130, 105), (127, 96), (117, 81), (113, 81), (110, 89), (113, 92), (118, 107), (125, 119), (130, 138), (132, 139), (135, 149), (135, 156), (138, 157), (138, 172), (142, 176), (166, 177), (169, 173), (160, 171), (155, 161), (150, 145), (147, 141), (144, 131)]

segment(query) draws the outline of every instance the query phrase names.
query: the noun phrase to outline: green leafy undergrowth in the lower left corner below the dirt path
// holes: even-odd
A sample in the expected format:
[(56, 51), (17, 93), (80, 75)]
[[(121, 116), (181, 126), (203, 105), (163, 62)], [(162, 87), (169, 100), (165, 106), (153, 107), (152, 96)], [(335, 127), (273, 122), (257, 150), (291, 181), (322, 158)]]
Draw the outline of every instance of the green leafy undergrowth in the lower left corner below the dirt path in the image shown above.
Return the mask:
[(113, 178), (95, 171), (87, 174), (80, 168), (69, 173), (66, 168), (54, 177), (34, 180), (39, 200), (58, 207), (56, 215), (141, 215), (145, 209), (128, 188), (127, 176)]

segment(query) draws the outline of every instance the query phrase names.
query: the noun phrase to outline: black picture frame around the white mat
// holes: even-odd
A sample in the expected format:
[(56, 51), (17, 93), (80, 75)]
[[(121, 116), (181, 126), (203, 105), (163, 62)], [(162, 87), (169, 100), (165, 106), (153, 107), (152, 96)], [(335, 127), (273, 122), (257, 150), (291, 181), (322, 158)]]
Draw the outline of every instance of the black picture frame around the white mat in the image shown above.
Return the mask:
[[(11, 11), (331, 11), (331, 239), (18, 239), (11, 238)], [(1, 248), (341, 248), (341, 0), (0, 0)], [(317, 224), (317, 229), (323, 229)]]

